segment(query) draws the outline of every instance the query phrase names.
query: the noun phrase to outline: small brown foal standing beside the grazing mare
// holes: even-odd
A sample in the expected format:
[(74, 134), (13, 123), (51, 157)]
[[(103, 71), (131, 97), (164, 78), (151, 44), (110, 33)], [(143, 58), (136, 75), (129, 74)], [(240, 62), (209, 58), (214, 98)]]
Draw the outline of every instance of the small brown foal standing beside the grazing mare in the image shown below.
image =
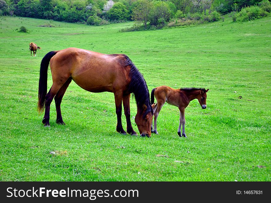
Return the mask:
[[(202, 88), (184, 88), (184, 89), (172, 89), (168, 86), (160, 86), (152, 89), (151, 93), (151, 103), (153, 107), (153, 115), (154, 115), (154, 130), (151, 131), (155, 134), (157, 132), (157, 117), (163, 105), (167, 102), (168, 104), (174, 105), (180, 110), (180, 124), (178, 128), (178, 135), (187, 137), (184, 131), (185, 118), (184, 118), (184, 109), (188, 106), (189, 102), (193, 99), (198, 99), (200, 106), (205, 109), (206, 106), (206, 98), (209, 89), (205, 90)], [(156, 98), (157, 103), (154, 104), (154, 96)], [(181, 135), (181, 127), (183, 125), (182, 135)]]

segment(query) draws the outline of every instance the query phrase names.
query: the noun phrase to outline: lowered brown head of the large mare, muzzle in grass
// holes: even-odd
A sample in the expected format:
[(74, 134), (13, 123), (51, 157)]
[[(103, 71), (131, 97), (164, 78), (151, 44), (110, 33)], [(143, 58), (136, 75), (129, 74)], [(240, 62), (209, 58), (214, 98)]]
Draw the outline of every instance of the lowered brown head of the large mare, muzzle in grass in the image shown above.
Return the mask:
[(142, 107), (140, 105), (137, 107), (135, 122), (140, 132), (140, 136), (142, 137), (151, 136), (152, 116), (153, 111), (150, 104), (149, 107), (147, 107), (146, 104), (143, 104)]

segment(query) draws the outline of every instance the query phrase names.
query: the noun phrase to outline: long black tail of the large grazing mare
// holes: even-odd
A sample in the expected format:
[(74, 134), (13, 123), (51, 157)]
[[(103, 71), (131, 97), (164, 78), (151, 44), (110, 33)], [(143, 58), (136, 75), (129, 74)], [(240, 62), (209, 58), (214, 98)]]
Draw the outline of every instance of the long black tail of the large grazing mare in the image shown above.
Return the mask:
[(45, 105), (45, 96), (47, 94), (47, 71), (50, 59), (57, 53), (57, 51), (50, 51), (47, 53), (40, 63), (39, 82), (38, 82), (38, 113), (42, 113)]

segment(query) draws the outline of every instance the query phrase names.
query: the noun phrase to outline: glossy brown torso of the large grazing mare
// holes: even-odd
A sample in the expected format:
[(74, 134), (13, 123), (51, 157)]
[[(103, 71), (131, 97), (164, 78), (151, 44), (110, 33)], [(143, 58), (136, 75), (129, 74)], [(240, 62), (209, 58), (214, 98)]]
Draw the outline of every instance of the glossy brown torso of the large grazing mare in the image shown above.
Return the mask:
[(87, 91), (114, 91), (125, 88), (129, 71), (124, 55), (102, 54), (78, 48), (57, 51), (50, 61), (51, 72), (56, 80), (71, 77)]

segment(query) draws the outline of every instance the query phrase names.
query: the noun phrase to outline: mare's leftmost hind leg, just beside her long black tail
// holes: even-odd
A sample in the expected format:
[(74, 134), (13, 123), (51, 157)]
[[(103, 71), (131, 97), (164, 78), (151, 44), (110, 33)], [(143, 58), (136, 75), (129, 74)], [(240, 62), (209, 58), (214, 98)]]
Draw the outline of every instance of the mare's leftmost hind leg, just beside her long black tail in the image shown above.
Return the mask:
[(50, 127), (50, 124), (49, 124), (50, 105), (51, 105), (51, 102), (52, 102), (54, 96), (59, 91), (59, 89), (62, 87), (62, 85), (63, 84), (53, 82), (53, 85), (52, 85), (51, 89), (49, 90), (49, 92), (45, 96), (45, 98), (46, 98), (46, 100), (45, 100), (45, 114), (44, 114), (44, 117), (42, 119), (42, 123), (44, 124), (44, 126)]

